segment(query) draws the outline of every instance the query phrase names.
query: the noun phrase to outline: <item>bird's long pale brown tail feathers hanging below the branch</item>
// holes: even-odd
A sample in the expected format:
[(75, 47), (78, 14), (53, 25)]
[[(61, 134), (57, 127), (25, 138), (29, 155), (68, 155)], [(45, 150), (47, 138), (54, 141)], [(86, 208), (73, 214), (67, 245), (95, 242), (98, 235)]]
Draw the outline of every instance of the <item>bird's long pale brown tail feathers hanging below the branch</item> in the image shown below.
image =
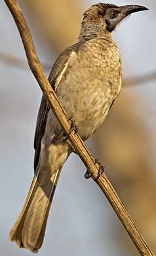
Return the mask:
[(24, 247), (33, 253), (37, 253), (41, 248), (61, 169), (54, 172), (47, 184), (42, 187), (37, 182), (38, 174), (34, 176), (26, 203), (9, 234), (9, 240), (16, 242), (18, 247)]

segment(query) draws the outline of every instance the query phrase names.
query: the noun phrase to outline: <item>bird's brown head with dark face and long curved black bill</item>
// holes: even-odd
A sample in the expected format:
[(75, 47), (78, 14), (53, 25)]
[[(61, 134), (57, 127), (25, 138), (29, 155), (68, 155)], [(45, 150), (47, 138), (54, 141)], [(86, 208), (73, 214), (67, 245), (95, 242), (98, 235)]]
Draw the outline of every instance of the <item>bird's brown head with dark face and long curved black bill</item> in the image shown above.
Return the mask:
[(101, 33), (111, 33), (117, 24), (129, 14), (144, 10), (148, 9), (140, 5), (125, 5), (121, 7), (109, 3), (92, 5), (83, 14), (79, 39), (91, 39)]

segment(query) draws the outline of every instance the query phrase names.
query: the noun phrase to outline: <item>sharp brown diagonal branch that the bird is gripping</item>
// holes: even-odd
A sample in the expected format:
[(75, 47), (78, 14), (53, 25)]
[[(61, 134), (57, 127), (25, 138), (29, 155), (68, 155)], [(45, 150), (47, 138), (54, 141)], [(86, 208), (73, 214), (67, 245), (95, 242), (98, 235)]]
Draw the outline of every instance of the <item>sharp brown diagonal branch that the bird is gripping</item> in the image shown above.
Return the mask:
[[(20, 7), (15, 0), (5, 0), (5, 3), (7, 4), (10, 13), (14, 18), (14, 21), (16, 22), (16, 26), (18, 27), (18, 30), (20, 32), (20, 36), (24, 44), (24, 49), (26, 51), (29, 67), (33, 72), (33, 75), (35, 76), (37, 82), (39, 83), (41, 90), (43, 91), (43, 93), (45, 93), (50, 108), (58, 118), (58, 121), (64, 129), (64, 132), (68, 134), (71, 122), (68, 122), (68, 115), (62, 108), (62, 105), (58, 101), (56, 93), (54, 93), (54, 91), (52, 90), (49, 81), (45, 76), (41, 63), (39, 62), (39, 59), (36, 55), (33, 40), (31, 38), (31, 34), (29, 32), (29, 28), (26, 24), (26, 20), (24, 19), (22, 11), (20, 10)], [(71, 141), (73, 147), (75, 148), (75, 151), (77, 151), (77, 154), (79, 155), (87, 169), (93, 173), (92, 178), (93, 180), (95, 180), (96, 176), (98, 175), (98, 164), (92, 157), (91, 153), (88, 151), (85, 143), (81, 140), (78, 134), (74, 135), (73, 132), (69, 135), (69, 141)], [(130, 218), (130, 215), (128, 215), (127, 209), (119, 199), (117, 193), (113, 189), (113, 186), (111, 186), (106, 175), (102, 174), (100, 178), (98, 178), (98, 180), (95, 180), (95, 182), (98, 184), (98, 186), (100, 186), (102, 192), (104, 192), (104, 194), (106, 195), (109, 203), (111, 203), (113, 209), (115, 210), (115, 213), (125, 226), (130, 238), (136, 245), (137, 249), (140, 251), (141, 255), (154, 256), (155, 254), (153, 253), (153, 251), (151, 251), (151, 249), (145, 242), (144, 238), (140, 234), (140, 231), (134, 224), (132, 218)]]

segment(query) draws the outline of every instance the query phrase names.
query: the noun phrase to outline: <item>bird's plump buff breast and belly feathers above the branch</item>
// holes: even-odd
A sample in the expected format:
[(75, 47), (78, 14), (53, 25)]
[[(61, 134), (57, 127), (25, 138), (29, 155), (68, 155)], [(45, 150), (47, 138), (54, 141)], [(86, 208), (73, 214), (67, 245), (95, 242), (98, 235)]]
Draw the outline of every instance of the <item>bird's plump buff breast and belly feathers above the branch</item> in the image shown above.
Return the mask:
[(104, 121), (121, 88), (121, 59), (113, 43), (88, 41), (69, 61), (56, 90), (79, 135), (87, 140)]

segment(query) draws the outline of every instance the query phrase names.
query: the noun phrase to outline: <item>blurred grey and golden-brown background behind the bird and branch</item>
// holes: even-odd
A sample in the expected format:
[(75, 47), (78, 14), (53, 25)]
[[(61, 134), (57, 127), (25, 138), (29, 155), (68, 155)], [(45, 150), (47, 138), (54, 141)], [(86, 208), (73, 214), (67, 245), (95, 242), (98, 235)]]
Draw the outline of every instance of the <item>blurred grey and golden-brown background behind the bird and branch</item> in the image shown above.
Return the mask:
[[(47, 76), (56, 57), (77, 42), (82, 15), (94, 0), (18, 0)], [(156, 3), (144, 5), (113, 32), (123, 62), (123, 88), (100, 129), (87, 141), (156, 253)], [(31, 74), (22, 41), (0, 1), (0, 248), (1, 255), (32, 255), (8, 236), (33, 178), (33, 136), (41, 90)], [(38, 255), (140, 255), (86, 168), (71, 154), (52, 202), (45, 241)]]

